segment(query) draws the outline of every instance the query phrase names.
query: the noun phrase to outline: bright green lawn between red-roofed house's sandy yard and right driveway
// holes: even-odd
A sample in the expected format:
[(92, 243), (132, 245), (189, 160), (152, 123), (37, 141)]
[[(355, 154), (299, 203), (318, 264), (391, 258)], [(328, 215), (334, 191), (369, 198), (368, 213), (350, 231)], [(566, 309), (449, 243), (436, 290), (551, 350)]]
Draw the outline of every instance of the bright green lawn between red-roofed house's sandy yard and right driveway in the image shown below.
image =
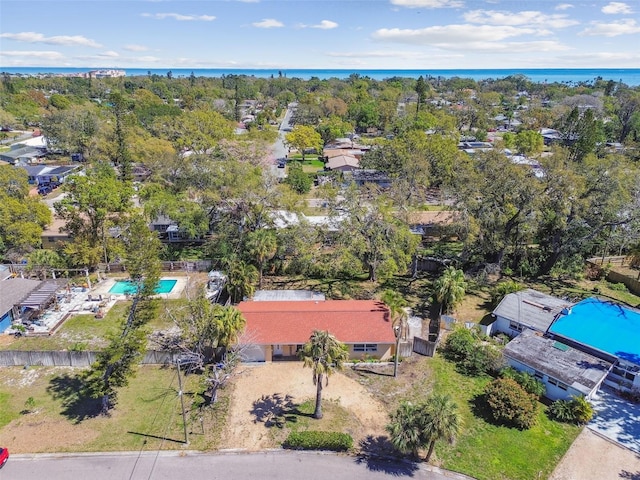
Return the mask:
[(478, 480), (531, 480), (548, 478), (581, 427), (550, 420), (539, 404), (537, 424), (530, 430), (495, 426), (476, 416), (474, 398), (492, 377), (468, 377), (436, 355), (402, 362), (398, 379), (347, 371), (391, 412), (402, 400), (417, 403), (432, 391), (449, 394), (458, 405), (462, 431), (454, 445), (436, 444), (434, 462)]

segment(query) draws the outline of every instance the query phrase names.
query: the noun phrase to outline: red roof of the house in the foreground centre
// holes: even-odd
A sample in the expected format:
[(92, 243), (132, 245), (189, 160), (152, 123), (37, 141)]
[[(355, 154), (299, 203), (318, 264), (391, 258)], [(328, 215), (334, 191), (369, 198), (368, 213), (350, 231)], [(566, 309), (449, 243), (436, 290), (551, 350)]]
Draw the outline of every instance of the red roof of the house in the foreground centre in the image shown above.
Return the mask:
[(394, 343), (389, 310), (375, 300), (241, 302), (246, 331), (257, 345), (301, 345), (313, 330), (343, 343)]

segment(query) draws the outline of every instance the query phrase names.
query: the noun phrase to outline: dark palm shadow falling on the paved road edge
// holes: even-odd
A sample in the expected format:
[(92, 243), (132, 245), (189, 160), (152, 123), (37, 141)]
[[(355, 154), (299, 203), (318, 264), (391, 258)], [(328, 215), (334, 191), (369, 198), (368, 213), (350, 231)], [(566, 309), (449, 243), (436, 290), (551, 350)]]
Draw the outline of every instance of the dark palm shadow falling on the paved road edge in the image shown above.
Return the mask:
[(405, 459), (394, 448), (385, 436), (369, 435), (360, 441), (360, 452), (355, 461), (366, 464), (372, 472), (384, 472), (396, 477), (413, 477), (420, 468), (420, 462), (415, 459)]

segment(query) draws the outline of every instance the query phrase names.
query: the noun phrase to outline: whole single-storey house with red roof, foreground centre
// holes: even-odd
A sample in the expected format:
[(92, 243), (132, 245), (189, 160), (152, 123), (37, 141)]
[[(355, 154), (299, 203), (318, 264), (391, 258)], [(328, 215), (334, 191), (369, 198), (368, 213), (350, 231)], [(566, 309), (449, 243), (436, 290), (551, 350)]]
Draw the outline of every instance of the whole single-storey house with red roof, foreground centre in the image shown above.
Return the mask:
[(245, 301), (245, 361), (295, 358), (314, 330), (325, 330), (349, 347), (349, 357), (388, 359), (394, 353), (389, 309), (376, 300)]

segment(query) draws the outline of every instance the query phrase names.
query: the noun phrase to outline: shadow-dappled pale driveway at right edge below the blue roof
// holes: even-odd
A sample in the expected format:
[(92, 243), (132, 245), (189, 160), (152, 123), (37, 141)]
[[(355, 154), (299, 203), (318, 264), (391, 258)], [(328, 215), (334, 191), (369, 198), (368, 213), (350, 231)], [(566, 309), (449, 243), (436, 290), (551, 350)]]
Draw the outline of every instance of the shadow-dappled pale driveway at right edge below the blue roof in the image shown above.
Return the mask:
[(640, 454), (640, 405), (604, 387), (591, 402), (596, 411), (590, 430)]

